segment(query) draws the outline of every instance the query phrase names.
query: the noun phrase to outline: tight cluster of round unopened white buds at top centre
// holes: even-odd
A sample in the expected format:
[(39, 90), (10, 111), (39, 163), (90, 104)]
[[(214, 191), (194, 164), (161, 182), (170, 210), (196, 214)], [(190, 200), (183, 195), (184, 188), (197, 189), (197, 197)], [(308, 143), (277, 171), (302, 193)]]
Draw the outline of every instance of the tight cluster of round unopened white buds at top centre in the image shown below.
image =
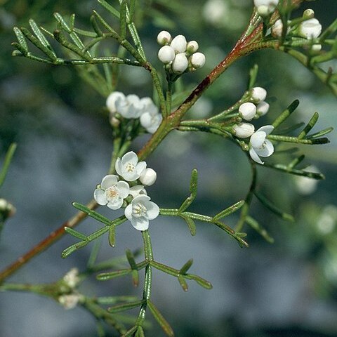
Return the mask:
[(163, 30), (158, 34), (157, 42), (162, 46), (158, 52), (159, 60), (166, 65), (166, 70), (174, 74), (197, 70), (206, 62), (205, 55), (197, 52), (197, 41), (187, 42), (183, 35), (172, 39), (171, 34)]

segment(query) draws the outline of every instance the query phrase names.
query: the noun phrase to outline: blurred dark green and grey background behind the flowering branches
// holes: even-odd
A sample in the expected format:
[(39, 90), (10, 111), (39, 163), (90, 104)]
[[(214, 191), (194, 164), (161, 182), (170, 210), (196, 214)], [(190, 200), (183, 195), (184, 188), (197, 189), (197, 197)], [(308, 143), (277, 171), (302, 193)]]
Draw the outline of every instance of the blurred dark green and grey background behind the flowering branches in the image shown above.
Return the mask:
[[(138, 1), (139, 8), (145, 8), (138, 11), (136, 21), (147, 58), (160, 69), (156, 37), (161, 29), (173, 35), (185, 34), (187, 40), (196, 39), (207, 62), (204, 68), (183, 78), (183, 85), (193, 88), (230, 51), (249, 18), (252, 3)], [(72, 201), (86, 203), (91, 199), (93, 187), (107, 171), (112, 150), (105, 97), (88, 86), (76, 68), (13, 58), (12, 28), (28, 27), (29, 18), (34, 18), (40, 25), (55, 29), (53, 12), (57, 11), (62, 15), (76, 13), (77, 25), (85, 29), (93, 8), (114, 22), (95, 1), (0, 0), (0, 159), (12, 142), (18, 143), (0, 191), (0, 197), (18, 209), (1, 235), (1, 268), (72, 216)], [(305, 3), (294, 15), (301, 15), (305, 8), (315, 9), (323, 27), (336, 18), (336, 1)], [(114, 41), (106, 47), (112, 51), (117, 48)], [(271, 106), (261, 123), (268, 124), (298, 98), (294, 123), (308, 121), (318, 111), (316, 131), (319, 127), (336, 128), (336, 98), (329, 89), (296, 60), (276, 51), (260, 51), (239, 60), (189, 115), (206, 116), (236, 102), (246, 90), (248, 72), (255, 63), (260, 68), (258, 85), (267, 89)], [(336, 62), (331, 66), (336, 71)], [(143, 69), (121, 67), (117, 90), (140, 97), (152, 95), (150, 76)], [(306, 154), (306, 164), (314, 164), (326, 176), (316, 185), (259, 169), (258, 190), (296, 217), (296, 223), (286, 223), (253, 201), (253, 216), (275, 238), (275, 244), (267, 244), (248, 230), (251, 247), (239, 249), (217, 228), (199, 224), (197, 236), (190, 237), (179, 220), (160, 218), (154, 222), (152, 240), (157, 260), (178, 267), (194, 258), (192, 272), (209, 279), (214, 287), (205, 291), (191, 284), (190, 291), (182, 293), (176, 280), (154, 274), (154, 303), (172, 324), (176, 336), (337, 336), (336, 133), (329, 138), (329, 145), (299, 150)], [(140, 138), (133, 150), (146, 139)], [(279, 156), (279, 161), (286, 160)], [(193, 206), (197, 211), (217, 213), (243, 199), (249, 188), (246, 157), (215, 136), (171, 133), (147, 162), (158, 173), (150, 191), (152, 199), (163, 207), (176, 207), (185, 198), (194, 167), (199, 169), (199, 195)], [(234, 225), (235, 220), (232, 216), (229, 224)], [(86, 220), (80, 230), (92, 232), (96, 227)], [(117, 247), (110, 249), (104, 243), (100, 258), (141, 246), (139, 233), (122, 227), (117, 233)], [(91, 247), (67, 260), (60, 258), (62, 249), (72, 243), (71, 238), (63, 238), (11, 280), (53, 282), (74, 265), (84, 267)], [(125, 280), (100, 284), (92, 280), (84, 284), (84, 291), (140, 295), (141, 289), (133, 289)], [(57, 303), (31, 294), (0, 296), (0, 336), (95, 335), (94, 319), (80, 309), (66, 312)], [(154, 324), (149, 336), (162, 335)]]

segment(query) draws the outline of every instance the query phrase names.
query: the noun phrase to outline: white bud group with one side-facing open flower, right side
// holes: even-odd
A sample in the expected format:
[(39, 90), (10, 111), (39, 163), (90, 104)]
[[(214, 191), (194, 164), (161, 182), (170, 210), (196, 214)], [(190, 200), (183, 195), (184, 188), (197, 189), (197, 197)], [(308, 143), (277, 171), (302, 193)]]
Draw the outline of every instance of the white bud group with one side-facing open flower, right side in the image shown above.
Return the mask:
[[(267, 91), (265, 88), (256, 86), (251, 89), (251, 101), (239, 106), (239, 117), (250, 121), (265, 115), (269, 110), (269, 104), (265, 102)], [(238, 123), (233, 126), (234, 136), (237, 138), (249, 138), (249, 154), (251, 159), (258, 164), (263, 164), (260, 157), (269, 157), (274, 153), (274, 146), (266, 137), (272, 132), (273, 126), (267, 125), (255, 131), (255, 127), (250, 123)]]

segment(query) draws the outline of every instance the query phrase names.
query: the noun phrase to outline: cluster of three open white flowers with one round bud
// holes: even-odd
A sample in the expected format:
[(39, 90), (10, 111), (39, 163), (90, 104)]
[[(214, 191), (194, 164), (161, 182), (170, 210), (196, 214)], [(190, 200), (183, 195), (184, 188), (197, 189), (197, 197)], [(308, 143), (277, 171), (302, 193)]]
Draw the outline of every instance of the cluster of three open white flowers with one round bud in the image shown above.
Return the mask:
[[(159, 207), (150, 201), (145, 186), (150, 186), (157, 180), (157, 173), (146, 167), (145, 161), (138, 161), (135, 152), (128, 152), (117, 158), (115, 169), (119, 176), (110, 174), (103, 178), (93, 196), (95, 201), (110, 209), (120, 209), (128, 203), (124, 214), (136, 230), (147, 230), (149, 220), (159, 216)], [(119, 179), (123, 180), (119, 180)], [(139, 181), (138, 181), (139, 180)], [(130, 187), (129, 183), (132, 183)]]

